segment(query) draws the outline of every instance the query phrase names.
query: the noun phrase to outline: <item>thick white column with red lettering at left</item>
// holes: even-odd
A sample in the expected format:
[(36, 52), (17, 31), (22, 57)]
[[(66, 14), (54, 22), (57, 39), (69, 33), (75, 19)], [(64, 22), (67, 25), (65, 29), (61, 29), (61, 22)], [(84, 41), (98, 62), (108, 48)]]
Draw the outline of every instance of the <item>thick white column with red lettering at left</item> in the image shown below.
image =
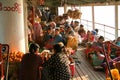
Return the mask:
[(0, 43), (25, 52), (23, 0), (0, 0)]

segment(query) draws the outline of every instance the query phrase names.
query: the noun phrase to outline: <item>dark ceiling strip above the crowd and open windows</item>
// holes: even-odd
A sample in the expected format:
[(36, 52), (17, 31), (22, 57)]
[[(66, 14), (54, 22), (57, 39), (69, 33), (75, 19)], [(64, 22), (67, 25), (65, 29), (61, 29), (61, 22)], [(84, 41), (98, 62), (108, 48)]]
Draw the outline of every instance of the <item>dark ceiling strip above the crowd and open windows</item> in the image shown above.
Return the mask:
[(28, 3), (37, 4), (44, 1), (44, 5), (48, 7), (63, 6), (65, 3), (68, 5), (86, 5), (93, 3), (117, 2), (120, 0), (27, 0)]

